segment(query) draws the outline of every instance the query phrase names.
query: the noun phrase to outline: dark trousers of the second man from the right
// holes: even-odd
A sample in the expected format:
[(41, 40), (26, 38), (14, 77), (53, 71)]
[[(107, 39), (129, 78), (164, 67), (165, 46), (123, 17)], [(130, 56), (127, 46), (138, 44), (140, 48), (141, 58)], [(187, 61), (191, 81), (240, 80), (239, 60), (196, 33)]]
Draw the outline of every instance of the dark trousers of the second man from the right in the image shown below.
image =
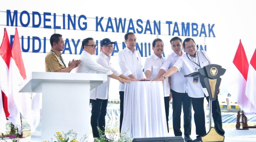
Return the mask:
[(173, 96), (173, 131), (175, 136), (182, 136), (180, 131), (181, 107), (183, 107), (184, 136), (191, 135), (191, 98), (188, 93), (171, 90)]

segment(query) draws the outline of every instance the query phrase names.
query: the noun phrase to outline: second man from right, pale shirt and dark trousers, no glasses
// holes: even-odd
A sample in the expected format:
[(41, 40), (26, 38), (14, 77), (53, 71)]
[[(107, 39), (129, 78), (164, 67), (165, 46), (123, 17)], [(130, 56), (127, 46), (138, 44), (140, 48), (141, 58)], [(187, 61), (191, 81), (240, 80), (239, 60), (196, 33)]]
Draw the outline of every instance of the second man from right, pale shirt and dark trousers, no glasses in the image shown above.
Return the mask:
[[(168, 69), (172, 68), (174, 63), (182, 56), (184, 53), (182, 51), (182, 39), (179, 37), (173, 37), (170, 40), (172, 50), (174, 51), (170, 55), (167, 56), (164, 64), (162, 65), (157, 79), (160, 78)], [(173, 98), (173, 131), (175, 136), (182, 136), (182, 132), (180, 131), (180, 115), (181, 115), (181, 107), (183, 107), (184, 114), (184, 140), (191, 142), (191, 98), (188, 96), (186, 92), (186, 82), (185, 77), (183, 75), (183, 71), (177, 72), (172, 75), (171, 78), (171, 94)]]

